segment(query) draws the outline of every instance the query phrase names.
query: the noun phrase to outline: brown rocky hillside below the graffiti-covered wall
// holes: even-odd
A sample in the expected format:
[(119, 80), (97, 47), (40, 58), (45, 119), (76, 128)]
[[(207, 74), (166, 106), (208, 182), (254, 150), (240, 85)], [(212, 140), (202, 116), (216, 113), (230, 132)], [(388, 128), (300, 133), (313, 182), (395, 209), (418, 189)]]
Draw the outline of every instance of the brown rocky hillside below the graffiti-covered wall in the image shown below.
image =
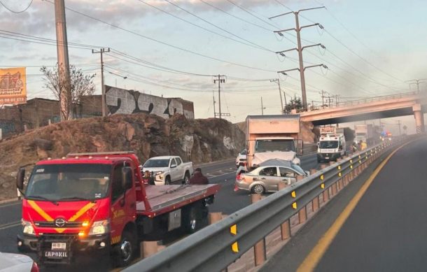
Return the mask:
[(195, 164), (235, 157), (244, 133), (226, 120), (165, 120), (137, 113), (72, 120), (27, 131), (0, 142), (0, 200), (16, 196), (19, 166), (69, 152), (133, 150), (142, 162), (153, 156), (179, 155)]

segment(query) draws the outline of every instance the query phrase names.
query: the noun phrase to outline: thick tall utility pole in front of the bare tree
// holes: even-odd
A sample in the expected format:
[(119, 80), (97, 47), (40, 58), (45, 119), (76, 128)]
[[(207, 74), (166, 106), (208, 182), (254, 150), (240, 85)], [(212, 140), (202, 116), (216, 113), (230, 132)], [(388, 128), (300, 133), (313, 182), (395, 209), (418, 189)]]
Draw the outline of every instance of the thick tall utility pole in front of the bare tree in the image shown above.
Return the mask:
[(55, 25), (57, 39), (58, 77), (59, 77), (59, 115), (61, 121), (70, 119), (71, 79), (66, 38), (64, 0), (55, 0)]

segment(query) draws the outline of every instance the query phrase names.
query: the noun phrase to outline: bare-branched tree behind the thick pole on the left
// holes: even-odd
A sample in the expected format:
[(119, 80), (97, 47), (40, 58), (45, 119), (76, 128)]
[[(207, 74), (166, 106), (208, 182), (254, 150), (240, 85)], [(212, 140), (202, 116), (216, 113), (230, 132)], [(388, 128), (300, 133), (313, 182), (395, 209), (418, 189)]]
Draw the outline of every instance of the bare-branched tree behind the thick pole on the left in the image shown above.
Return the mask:
[[(62, 88), (59, 83), (58, 64), (52, 69), (42, 66), (40, 71), (45, 76), (45, 78), (43, 78), (45, 83), (44, 86), (51, 90), (59, 101)], [(74, 116), (76, 116), (75, 105), (81, 102), (83, 96), (90, 95), (95, 92), (93, 78), (96, 75), (96, 73), (84, 74), (81, 69), (77, 69), (76, 66), (70, 65), (71, 101), (69, 103), (71, 103), (71, 105), (69, 106), (71, 106)]]

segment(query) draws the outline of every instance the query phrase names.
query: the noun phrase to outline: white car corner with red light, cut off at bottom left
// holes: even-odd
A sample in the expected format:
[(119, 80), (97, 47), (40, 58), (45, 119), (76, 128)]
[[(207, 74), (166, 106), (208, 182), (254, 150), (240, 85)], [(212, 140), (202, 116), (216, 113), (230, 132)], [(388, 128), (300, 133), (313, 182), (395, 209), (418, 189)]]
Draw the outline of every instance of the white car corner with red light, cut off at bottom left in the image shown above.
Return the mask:
[(38, 266), (27, 255), (0, 252), (0, 272), (38, 272)]

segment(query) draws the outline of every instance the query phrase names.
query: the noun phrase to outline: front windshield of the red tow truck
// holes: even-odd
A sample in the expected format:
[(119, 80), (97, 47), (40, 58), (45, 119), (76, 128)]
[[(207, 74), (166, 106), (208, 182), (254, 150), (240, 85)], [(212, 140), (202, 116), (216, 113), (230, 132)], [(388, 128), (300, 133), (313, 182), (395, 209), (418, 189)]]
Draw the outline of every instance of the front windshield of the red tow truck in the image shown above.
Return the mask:
[(48, 164), (34, 167), (25, 197), (46, 201), (78, 201), (107, 196), (108, 164)]

